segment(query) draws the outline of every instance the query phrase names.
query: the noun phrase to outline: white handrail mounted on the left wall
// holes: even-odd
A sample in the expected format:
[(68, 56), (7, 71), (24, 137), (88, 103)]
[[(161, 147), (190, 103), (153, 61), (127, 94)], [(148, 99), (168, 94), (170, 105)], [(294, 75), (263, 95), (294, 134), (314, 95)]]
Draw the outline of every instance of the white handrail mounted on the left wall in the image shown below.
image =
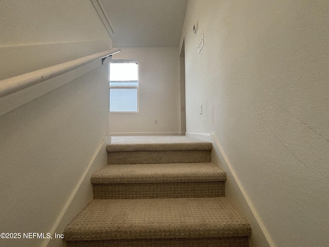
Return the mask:
[(33, 72), (2, 80), (0, 81), (0, 98), (26, 89), (29, 86), (33, 86), (40, 82), (49, 80), (53, 77), (62, 75), (66, 72), (86, 65), (95, 60), (106, 58), (119, 51), (120, 49), (118, 48), (112, 48), (94, 55), (86, 56), (83, 58), (75, 59), (69, 62), (53, 65), (47, 68), (42, 68)]

